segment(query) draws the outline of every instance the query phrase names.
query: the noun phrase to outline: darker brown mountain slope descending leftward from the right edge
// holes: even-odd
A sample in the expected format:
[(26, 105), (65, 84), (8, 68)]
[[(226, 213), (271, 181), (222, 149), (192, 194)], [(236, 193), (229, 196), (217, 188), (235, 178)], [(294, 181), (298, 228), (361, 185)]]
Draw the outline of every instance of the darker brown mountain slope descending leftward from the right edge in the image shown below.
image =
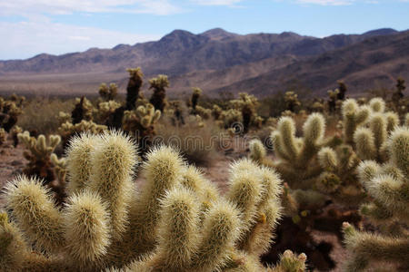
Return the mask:
[(344, 80), (355, 93), (368, 88), (392, 87), (396, 77), (409, 81), (409, 31), (374, 36), (362, 42), (291, 63), (279, 69), (244, 79), (216, 92), (246, 90), (264, 95), (292, 86), (323, 94)]

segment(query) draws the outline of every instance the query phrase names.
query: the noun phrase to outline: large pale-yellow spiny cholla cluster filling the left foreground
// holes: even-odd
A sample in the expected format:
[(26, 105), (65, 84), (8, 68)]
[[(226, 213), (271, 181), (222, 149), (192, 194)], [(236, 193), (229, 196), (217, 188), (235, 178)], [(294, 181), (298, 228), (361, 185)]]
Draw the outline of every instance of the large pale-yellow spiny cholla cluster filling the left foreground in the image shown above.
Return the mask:
[[(150, 151), (145, 184), (134, 189), (135, 143), (121, 132), (82, 134), (67, 151), (67, 194), (57, 209), (40, 180), (5, 187), (0, 267), (23, 271), (303, 271), (305, 256), (285, 252), (263, 267), (280, 217), (274, 170), (238, 160), (222, 197), (177, 151)], [(291, 270), (290, 270), (291, 269)]]

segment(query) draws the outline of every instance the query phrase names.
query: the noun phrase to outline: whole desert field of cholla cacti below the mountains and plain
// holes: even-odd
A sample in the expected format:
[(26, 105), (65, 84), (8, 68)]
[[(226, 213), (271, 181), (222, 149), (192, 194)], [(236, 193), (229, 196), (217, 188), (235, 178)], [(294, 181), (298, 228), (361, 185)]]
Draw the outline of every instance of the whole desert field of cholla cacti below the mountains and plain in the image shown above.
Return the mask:
[(409, 98), (0, 97), (0, 271), (408, 271)]

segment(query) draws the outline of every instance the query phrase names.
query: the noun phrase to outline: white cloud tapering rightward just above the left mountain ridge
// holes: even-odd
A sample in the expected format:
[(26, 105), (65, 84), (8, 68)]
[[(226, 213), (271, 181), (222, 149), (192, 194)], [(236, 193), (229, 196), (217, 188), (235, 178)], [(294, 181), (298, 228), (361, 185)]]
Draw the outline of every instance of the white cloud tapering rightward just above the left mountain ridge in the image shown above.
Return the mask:
[[(10, 31), (12, 30), (12, 31)], [(70, 53), (90, 47), (111, 48), (160, 38), (155, 34), (127, 34), (95, 27), (46, 22), (0, 22), (0, 59), (28, 58), (38, 53)]]

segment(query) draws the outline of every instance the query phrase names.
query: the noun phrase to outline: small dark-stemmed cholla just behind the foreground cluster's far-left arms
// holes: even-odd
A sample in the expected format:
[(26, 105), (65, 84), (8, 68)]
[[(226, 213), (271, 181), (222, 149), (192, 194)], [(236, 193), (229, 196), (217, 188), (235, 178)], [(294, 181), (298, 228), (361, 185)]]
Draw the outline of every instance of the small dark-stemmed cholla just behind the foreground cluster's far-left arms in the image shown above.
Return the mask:
[(24, 156), (29, 162), (23, 170), (25, 175), (44, 179), (46, 183), (55, 180), (50, 156), (60, 143), (61, 137), (50, 135), (47, 142), (44, 135), (40, 135), (35, 139), (35, 137), (30, 136), (28, 131), (19, 133), (17, 137), (27, 149)]

